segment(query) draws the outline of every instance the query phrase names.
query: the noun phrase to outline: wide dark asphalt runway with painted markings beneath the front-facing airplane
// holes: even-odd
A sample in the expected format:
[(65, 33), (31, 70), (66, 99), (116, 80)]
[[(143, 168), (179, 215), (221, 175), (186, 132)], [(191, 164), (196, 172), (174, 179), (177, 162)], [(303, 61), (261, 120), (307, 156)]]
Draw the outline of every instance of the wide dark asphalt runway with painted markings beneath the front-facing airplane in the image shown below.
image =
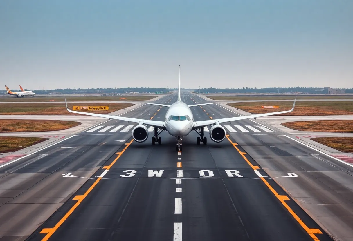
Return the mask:
[[(186, 93), (187, 104), (205, 102)], [(144, 105), (124, 116), (162, 121), (166, 110)], [(218, 105), (192, 111), (195, 121), (235, 115)], [(191, 132), (182, 152), (166, 131), (151, 145), (152, 132), (132, 140), (132, 123), (102, 125), (0, 169), (0, 240), (332, 240), (280, 185), (305, 193), (307, 208), (331, 198), (333, 213), (343, 207), (332, 197), (353, 197), (330, 177), (353, 178), (349, 166), (253, 120), (225, 124), (221, 143), (206, 133), (197, 145)], [(320, 192), (327, 182), (346, 192)]]

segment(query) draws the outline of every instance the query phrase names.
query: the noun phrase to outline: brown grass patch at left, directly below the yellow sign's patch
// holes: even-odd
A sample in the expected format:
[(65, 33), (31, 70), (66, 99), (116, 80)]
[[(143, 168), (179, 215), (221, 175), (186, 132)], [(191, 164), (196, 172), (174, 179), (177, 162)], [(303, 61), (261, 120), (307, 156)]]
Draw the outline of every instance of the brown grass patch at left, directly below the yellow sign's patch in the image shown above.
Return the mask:
[(0, 119), (0, 132), (66, 130), (80, 124), (76, 121)]

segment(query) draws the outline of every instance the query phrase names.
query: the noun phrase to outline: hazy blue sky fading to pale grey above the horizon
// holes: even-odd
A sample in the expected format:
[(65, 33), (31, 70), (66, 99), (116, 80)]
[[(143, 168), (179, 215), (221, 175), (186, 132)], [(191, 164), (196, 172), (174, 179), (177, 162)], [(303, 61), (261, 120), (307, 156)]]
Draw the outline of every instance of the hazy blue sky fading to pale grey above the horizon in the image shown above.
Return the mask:
[(353, 1), (0, 2), (16, 89), (353, 87)]

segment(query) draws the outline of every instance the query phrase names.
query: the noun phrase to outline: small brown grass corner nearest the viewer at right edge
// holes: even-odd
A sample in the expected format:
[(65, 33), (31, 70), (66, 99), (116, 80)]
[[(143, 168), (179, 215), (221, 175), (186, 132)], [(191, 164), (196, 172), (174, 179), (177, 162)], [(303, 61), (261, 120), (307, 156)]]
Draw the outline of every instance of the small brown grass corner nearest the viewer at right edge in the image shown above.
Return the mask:
[(340, 152), (353, 153), (353, 137), (316, 137), (311, 140), (332, 147)]

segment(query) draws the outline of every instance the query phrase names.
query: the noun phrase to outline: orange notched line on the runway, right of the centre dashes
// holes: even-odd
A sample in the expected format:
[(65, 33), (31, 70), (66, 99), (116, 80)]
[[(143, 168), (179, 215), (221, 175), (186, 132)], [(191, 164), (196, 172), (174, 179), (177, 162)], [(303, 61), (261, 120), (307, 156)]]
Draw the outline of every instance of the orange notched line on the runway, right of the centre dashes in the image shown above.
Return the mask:
[[(237, 149), (237, 151), (240, 153), (240, 155), (245, 159), (245, 161), (252, 167), (254, 171), (257, 171), (256, 169), (259, 169), (258, 166), (253, 166), (251, 162), (244, 156), (244, 153), (239, 150), (237, 147), (236, 143), (233, 143), (231, 139), (229, 138), (229, 135), (226, 135), (228, 141), (232, 143), (233, 147)], [(257, 171), (257, 174), (259, 172)], [(259, 174), (258, 174), (259, 175)], [(260, 176), (260, 175), (259, 175)], [(310, 237), (315, 240), (315, 241), (320, 241), (318, 237), (316, 237), (315, 234), (322, 234), (322, 231), (317, 228), (308, 228), (306, 224), (298, 217), (298, 215), (288, 206), (288, 204), (285, 202), (285, 200), (290, 200), (288, 196), (286, 195), (280, 195), (276, 192), (276, 190), (273, 189), (273, 187), (268, 183), (268, 181), (264, 177), (260, 177), (260, 179), (265, 183), (265, 185), (273, 192), (273, 194), (276, 196), (278, 200), (285, 206), (285, 208), (289, 211), (289, 213), (297, 220), (297, 222), (300, 224), (300, 226), (310, 235)]]

